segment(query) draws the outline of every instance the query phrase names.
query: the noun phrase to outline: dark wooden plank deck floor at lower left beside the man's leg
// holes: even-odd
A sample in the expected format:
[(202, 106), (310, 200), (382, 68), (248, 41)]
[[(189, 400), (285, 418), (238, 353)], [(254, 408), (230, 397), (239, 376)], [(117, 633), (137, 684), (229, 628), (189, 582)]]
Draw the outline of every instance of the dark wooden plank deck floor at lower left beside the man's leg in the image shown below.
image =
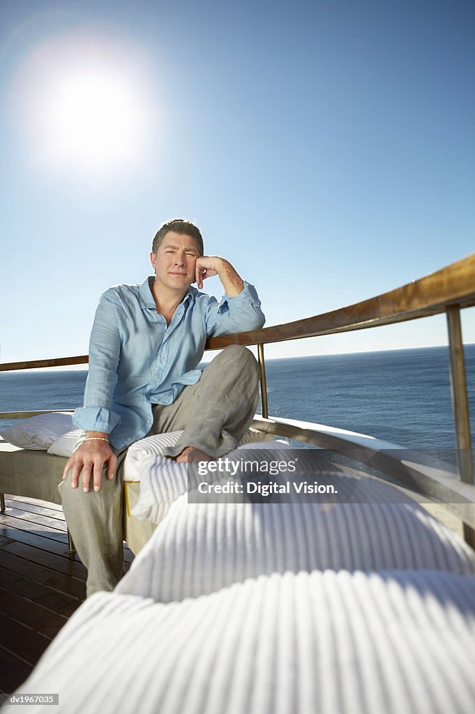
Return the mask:
[[(0, 692), (24, 682), (86, 598), (86, 568), (69, 555), (61, 506), (6, 496), (0, 514)], [(124, 548), (126, 568), (134, 555)]]

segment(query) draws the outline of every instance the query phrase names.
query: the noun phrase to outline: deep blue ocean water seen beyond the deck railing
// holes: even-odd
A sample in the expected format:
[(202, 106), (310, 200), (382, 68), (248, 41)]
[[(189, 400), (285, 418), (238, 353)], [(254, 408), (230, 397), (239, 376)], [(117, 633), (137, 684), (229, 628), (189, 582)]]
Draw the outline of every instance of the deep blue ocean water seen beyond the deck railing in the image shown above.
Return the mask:
[[(465, 356), (475, 441), (475, 345), (465, 347)], [(86, 375), (0, 373), (0, 411), (81, 406)], [(446, 347), (269, 360), (266, 375), (271, 416), (367, 433), (406, 448), (454, 448)]]

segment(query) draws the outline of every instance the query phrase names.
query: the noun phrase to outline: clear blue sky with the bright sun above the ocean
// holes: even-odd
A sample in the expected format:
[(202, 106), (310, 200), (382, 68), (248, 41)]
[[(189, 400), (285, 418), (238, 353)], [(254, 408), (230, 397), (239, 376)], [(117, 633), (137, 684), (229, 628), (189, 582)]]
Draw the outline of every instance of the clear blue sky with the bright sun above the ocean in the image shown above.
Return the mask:
[[(256, 285), (267, 325), (474, 250), (471, 1), (2, 0), (0, 27), (0, 361), (86, 353), (99, 296), (150, 274), (174, 216)], [(81, 72), (105, 99), (61, 114)], [(463, 327), (475, 342), (473, 310)], [(438, 316), (267, 354), (443, 343)]]

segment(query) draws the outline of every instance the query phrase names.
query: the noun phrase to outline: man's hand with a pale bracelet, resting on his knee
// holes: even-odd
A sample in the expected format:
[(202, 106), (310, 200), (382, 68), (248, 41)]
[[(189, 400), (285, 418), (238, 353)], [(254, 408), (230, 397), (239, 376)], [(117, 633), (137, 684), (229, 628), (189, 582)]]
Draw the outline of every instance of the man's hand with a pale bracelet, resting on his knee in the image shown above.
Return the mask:
[(106, 476), (111, 479), (114, 478), (116, 463), (117, 457), (107, 441), (99, 438), (84, 441), (68, 459), (63, 471), (63, 481), (71, 470), (71, 488), (78, 488), (79, 476), (81, 476), (83, 491), (89, 491), (91, 478), (92, 488), (94, 491), (99, 491), (104, 466), (107, 464)]

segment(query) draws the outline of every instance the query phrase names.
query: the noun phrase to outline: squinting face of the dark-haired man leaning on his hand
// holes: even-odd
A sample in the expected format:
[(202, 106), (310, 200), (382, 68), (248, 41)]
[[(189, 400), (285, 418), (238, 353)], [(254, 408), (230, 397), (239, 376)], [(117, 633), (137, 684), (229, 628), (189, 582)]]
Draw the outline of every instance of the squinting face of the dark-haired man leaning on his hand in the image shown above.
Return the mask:
[(186, 293), (194, 282), (198, 257), (199, 250), (194, 238), (168, 231), (156, 254), (150, 253), (158, 286)]

